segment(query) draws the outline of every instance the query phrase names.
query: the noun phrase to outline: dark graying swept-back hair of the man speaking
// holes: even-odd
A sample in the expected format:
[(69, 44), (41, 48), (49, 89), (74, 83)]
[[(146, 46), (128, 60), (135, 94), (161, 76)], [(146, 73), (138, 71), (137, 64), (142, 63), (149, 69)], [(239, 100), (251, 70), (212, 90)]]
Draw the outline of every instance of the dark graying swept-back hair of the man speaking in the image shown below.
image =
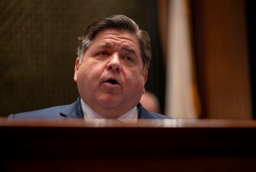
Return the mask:
[(95, 35), (100, 31), (107, 29), (114, 29), (121, 32), (126, 32), (137, 37), (140, 43), (140, 54), (143, 61), (142, 73), (145, 74), (146, 70), (149, 69), (149, 64), (152, 56), (149, 35), (145, 30), (140, 30), (139, 26), (133, 20), (123, 15), (104, 17), (88, 26), (83, 36), (78, 37), (77, 54), (79, 58), (79, 63), (82, 63), (83, 55), (92, 44)]

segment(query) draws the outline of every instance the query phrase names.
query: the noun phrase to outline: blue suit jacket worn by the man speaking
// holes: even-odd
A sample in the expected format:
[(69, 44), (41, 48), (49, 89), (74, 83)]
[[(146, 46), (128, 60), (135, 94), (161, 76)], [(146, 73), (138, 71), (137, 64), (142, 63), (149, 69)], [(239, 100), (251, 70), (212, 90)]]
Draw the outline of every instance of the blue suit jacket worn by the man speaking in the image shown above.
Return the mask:
[[(139, 119), (170, 119), (168, 116), (161, 114), (156, 114), (154, 112), (149, 112), (139, 103), (137, 105), (139, 108), (138, 118)], [(23, 112), (19, 114), (11, 114), (8, 116), (7, 121), (14, 121), (18, 118), (54, 118), (54, 119), (73, 119), (73, 118), (83, 118), (83, 110), (81, 107), (80, 97), (73, 102), (71, 105), (55, 106), (46, 109), (40, 109), (31, 112)]]

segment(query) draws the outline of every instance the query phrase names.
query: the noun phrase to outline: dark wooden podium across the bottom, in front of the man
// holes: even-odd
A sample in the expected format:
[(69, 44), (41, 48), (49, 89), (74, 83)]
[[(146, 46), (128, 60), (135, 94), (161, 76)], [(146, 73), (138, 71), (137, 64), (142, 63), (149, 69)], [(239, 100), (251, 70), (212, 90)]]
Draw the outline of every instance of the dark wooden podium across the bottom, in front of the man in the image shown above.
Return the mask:
[(252, 172), (256, 121), (0, 119), (1, 172)]

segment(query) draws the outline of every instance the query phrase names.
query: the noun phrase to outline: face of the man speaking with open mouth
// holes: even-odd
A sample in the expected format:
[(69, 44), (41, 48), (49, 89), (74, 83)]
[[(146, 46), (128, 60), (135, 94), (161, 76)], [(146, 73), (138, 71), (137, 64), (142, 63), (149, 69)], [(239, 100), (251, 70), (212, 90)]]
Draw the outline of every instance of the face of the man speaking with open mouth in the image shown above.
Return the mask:
[(82, 100), (104, 118), (117, 118), (135, 107), (141, 95), (147, 72), (136, 37), (116, 30), (98, 33), (79, 65), (74, 80)]

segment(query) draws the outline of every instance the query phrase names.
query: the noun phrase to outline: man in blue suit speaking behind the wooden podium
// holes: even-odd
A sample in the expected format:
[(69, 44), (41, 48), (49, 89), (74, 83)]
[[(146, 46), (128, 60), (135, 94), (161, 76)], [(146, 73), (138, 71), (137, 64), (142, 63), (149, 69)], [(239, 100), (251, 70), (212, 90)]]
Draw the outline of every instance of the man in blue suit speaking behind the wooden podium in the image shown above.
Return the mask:
[(167, 119), (139, 103), (151, 60), (148, 33), (123, 15), (92, 23), (78, 38), (74, 81), (80, 97), (71, 105), (50, 107), (16, 118)]

